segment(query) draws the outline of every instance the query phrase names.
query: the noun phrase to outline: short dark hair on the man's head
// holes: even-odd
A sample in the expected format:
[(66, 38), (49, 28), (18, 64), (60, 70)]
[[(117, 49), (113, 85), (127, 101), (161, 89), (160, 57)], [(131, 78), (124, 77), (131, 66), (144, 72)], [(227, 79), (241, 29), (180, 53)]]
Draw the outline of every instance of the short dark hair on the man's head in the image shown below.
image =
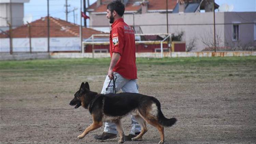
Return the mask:
[(113, 11), (116, 11), (119, 16), (123, 16), (125, 12), (125, 5), (120, 0), (115, 0), (107, 5), (107, 9), (110, 10), (111, 14)]

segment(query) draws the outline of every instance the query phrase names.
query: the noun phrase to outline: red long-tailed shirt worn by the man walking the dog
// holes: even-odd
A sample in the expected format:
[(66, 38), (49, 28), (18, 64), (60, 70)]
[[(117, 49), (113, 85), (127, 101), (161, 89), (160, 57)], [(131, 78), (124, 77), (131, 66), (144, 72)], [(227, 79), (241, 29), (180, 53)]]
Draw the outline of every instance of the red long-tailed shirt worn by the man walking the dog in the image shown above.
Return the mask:
[(133, 29), (128, 26), (123, 18), (117, 19), (111, 25), (110, 32), (110, 56), (119, 53), (120, 59), (117, 61), (113, 71), (119, 73), (124, 78), (136, 79), (136, 56), (135, 56), (135, 36)]

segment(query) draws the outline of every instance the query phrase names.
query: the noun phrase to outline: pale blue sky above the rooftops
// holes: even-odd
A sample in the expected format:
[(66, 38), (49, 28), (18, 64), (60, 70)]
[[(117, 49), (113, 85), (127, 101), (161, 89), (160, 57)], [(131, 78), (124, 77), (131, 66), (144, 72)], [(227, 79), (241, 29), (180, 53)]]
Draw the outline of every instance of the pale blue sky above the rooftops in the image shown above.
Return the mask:
[[(87, 0), (86, 0), (87, 1)], [(90, 4), (96, 0), (89, 0)], [(256, 0), (215, 0), (218, 5), (228, 4), (233, 5), (235, 12), (256, 11)], [(66, 20), (66, 0), (49, 0), (49, 13), (52, 17), (57, 17)], [(69, 11), (78, 8), (75, 11), (75, 21), (80, 24), (80, 0), (68, 0)], [(32, 21), (41, 17), (47, 16), (47, 0), (30, 0), (24, 4), (24, 16), (32, 16)], [(77, 20), (76, 20), (77, 19)], [(68, 14), (68, 21), (74, 23), (73, 12)], [(88, 25), (88, 24), (87, 24)]]

